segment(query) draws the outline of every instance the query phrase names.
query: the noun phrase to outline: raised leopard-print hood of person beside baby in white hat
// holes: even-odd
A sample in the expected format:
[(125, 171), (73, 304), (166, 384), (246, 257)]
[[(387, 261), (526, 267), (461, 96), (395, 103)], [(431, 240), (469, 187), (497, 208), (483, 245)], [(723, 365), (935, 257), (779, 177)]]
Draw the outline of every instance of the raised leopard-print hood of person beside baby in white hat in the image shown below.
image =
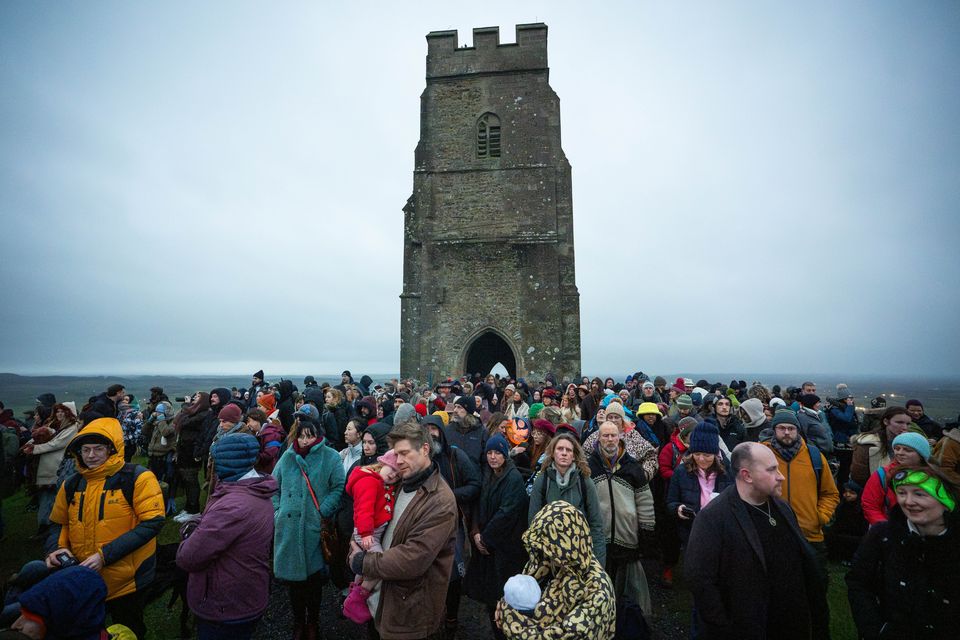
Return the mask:
[[(562, 540), (558, 531), (564, 532)], [(536, 565), (531, 575), (538, 582), (548, 575), (557, 579), (564, 574), (579, 575), (593, 560), (590, 526), (576, 507), (563, 500), (551, 502), (537, 513), (523, 534), (523, 546), (530, 563)]]

